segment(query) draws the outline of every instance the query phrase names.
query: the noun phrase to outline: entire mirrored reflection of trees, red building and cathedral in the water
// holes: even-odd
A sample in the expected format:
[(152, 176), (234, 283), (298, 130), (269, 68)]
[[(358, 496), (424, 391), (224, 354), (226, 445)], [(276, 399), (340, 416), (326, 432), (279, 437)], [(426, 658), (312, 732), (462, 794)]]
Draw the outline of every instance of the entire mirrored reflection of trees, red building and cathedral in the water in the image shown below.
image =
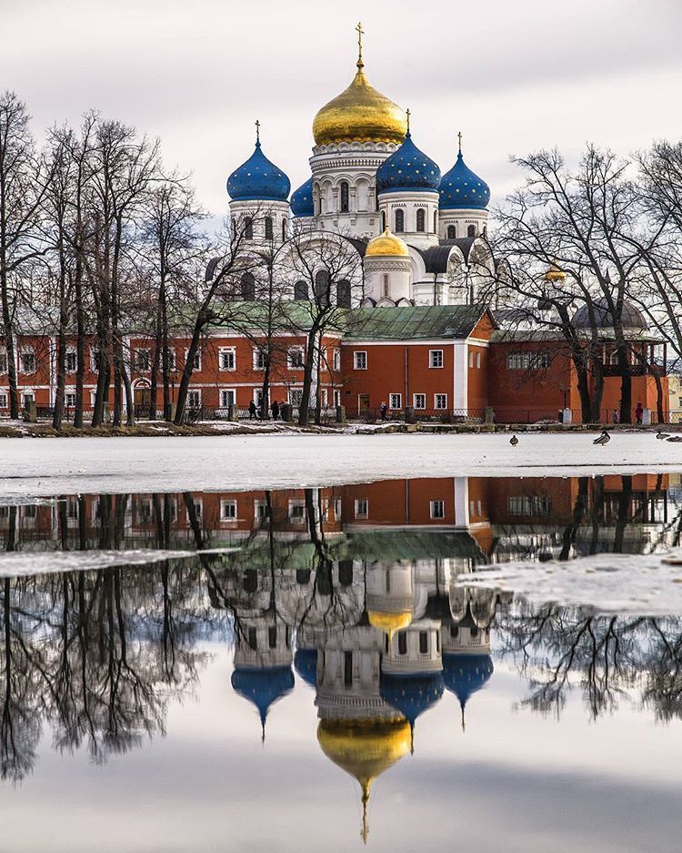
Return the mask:
[(276, 703), (314, 690), (317, 742), (356, 779), (366, 840), (376, 778), (418, 749), (417, 724), (438, 703), (454, 699), (453, 726), (466, 728), (494, 658), (526, 679), (522, 705), (543, 715), (561, 716), (577, 691), (594, 719), (622, 704), (660, 722), (682, 716), (677, 615), (531, 606), (456, 583), (519, 556), (648, 552), (677, 544), (681, 526), (667, 475), (0, 507), (5, 551), (29, 561), (50, 550), (230, 549), (2, 579), (0, 775), (27, 776), (44, 730), (56, 749), (84, 747), (100, 763), (165, 734), (169, 703), (196, 691), (208, 660), (199, 641), (210, 638), (232, 645), (231, 687), (254, 707), (264, 741)]

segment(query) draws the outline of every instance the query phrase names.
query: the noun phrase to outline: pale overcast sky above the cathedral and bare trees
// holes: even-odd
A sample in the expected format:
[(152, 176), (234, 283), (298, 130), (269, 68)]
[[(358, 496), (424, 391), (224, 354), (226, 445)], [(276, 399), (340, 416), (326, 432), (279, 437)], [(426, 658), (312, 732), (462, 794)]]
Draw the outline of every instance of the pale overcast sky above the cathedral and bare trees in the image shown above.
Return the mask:
[(496, 202), (517, 180), (510, 154), (680, 137), (679, 0), (0, 0), (0, 87), (38, 133), (96, 107), (161, 137), (222, 215), (256, 117), (292, 188), (308, 177), (312, 120), (353, 76), (358, 19), (366, 72), (411, 108), (416, 144), (445, 171), (461, 129)]

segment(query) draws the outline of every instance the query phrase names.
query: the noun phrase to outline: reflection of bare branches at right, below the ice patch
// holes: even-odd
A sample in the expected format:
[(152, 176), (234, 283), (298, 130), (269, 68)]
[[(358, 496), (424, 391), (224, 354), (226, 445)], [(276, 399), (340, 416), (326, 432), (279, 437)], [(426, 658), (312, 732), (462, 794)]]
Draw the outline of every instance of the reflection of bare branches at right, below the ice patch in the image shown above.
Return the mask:
[(500, 654), (530, 686), (523, 705), (560, 715), (568, 694), (582, 694), (596, 719), (628, 701), (661, 719), (682, 716), (682, 620), (587, 613), (519, 602), (496, 625)]

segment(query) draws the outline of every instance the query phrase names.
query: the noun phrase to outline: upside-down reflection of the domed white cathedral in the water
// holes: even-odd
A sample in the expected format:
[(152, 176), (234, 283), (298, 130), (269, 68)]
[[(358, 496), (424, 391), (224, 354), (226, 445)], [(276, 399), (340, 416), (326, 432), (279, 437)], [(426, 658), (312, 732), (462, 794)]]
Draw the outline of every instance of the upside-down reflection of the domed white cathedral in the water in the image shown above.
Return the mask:
[(370, 537), (349, 561), (335, 559), (332, 540), (306, 567), (235, 566), (223, 586), (236, 625), (232, 684), (256, 706), (264, 736), (269, 709), (294, 683), (296, 632), (296, 671), (316, 690), (317, 739), (358, 782), (365, 839), (372, 784), (414, 751), (417, 718), (447, 689), (464, 719), (493, 672), (496, 594), (458, 587), (446, 560), (417, 556), (419, 537), (415, 553), (406, 542), (401, 559), (383, 560)]

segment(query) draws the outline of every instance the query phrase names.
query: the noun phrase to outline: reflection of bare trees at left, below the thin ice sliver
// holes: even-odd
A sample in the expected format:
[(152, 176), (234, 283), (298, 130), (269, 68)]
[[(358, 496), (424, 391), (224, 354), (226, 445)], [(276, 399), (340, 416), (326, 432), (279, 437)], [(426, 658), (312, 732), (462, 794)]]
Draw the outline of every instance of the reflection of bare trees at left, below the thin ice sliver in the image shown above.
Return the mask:
[[(82, 504), (84, 505), (84, 504)], [(101, 499), (104, 547), (123, 529), (125, 501)], [(122, 509), (123, 507), (123, 509)], [(160, 533), (168, 528), (160, 502)], [(156, 564), (5, 579), (0, 606), (0, 774), (20, 779), (41, 726), (60, 749), (95, 761), (165, 732), (169, 700), (196, 684), (206, 612), (195, 564)]]

